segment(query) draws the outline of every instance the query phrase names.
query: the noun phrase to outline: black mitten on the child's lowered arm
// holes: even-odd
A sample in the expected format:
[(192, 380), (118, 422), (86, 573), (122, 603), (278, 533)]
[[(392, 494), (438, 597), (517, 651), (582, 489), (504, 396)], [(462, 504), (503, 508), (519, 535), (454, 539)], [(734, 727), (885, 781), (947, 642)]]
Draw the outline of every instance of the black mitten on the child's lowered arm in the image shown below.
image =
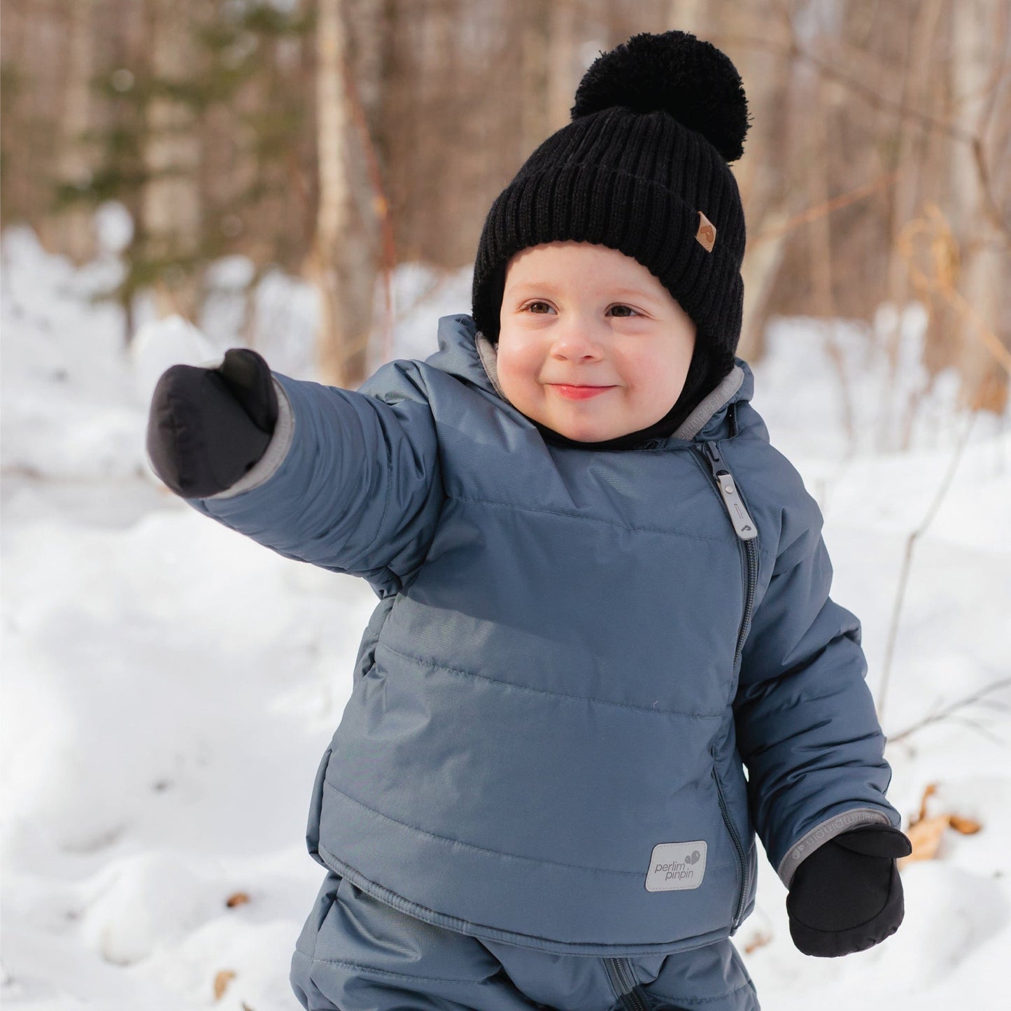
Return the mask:
[(891, 825), (861, 825), (819, 846), (797, 868), (787, 896), (797, 947), (831, 958), (894, 934), (905, 912), (895, 861), (912, 851)]

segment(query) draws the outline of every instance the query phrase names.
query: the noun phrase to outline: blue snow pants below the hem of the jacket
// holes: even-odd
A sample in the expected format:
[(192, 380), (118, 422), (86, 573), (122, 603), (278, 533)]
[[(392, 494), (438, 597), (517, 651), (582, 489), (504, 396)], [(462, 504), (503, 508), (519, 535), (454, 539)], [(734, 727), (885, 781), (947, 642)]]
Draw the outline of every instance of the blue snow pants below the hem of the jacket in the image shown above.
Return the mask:
[(418, 920), (333, 871), (291, 986), (306, 1011), (759, 1011), (729, 939), (646, 957), (551, 954)]

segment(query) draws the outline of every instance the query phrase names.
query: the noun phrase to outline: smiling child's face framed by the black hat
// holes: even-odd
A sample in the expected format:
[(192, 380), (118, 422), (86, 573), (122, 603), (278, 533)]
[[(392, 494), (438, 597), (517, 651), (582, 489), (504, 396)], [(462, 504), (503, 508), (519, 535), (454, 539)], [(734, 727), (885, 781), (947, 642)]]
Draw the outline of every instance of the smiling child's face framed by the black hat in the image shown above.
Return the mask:
[(615, 439), (663, 418), (695, 348), (695, 324), (656, 277), (589, 243), (548, 243), (513, 257), (499, 317), (505, 396), (578, 442)]

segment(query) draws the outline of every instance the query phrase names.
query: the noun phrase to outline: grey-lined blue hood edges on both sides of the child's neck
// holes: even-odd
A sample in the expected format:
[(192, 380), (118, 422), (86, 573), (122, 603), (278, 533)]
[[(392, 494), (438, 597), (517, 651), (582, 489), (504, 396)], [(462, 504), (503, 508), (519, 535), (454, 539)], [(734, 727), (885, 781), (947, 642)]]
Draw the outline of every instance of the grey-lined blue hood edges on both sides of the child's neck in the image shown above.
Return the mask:
[[(498, 384), (495, 346), (478, 332), (473, 317), (466, 313), (441, 316), (439, 319), (439, 350), (426, 359), (427, 365), (471, 383), (486, 393), (509, 403), (509, 397)], [(699, 402), (673, 435), (656, 440), (662, 445), (669, 440), (704, 441), (730, 435), (730, 405), (750, 401), (754, 377), (747, 362), (734, 359), (734, 367)]]

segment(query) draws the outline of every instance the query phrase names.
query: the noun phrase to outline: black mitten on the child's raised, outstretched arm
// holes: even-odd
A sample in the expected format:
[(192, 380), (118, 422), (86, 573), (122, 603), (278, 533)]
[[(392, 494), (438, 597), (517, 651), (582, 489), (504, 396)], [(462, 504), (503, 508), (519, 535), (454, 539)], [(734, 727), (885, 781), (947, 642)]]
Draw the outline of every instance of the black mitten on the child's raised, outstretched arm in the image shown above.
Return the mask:
[(216, 368), (173, 365), (158, 380), (148, 418), (155, 473), (184, 498), (231, 487), (263, 456), (277, 424), (270, 367), (231, 348)]

